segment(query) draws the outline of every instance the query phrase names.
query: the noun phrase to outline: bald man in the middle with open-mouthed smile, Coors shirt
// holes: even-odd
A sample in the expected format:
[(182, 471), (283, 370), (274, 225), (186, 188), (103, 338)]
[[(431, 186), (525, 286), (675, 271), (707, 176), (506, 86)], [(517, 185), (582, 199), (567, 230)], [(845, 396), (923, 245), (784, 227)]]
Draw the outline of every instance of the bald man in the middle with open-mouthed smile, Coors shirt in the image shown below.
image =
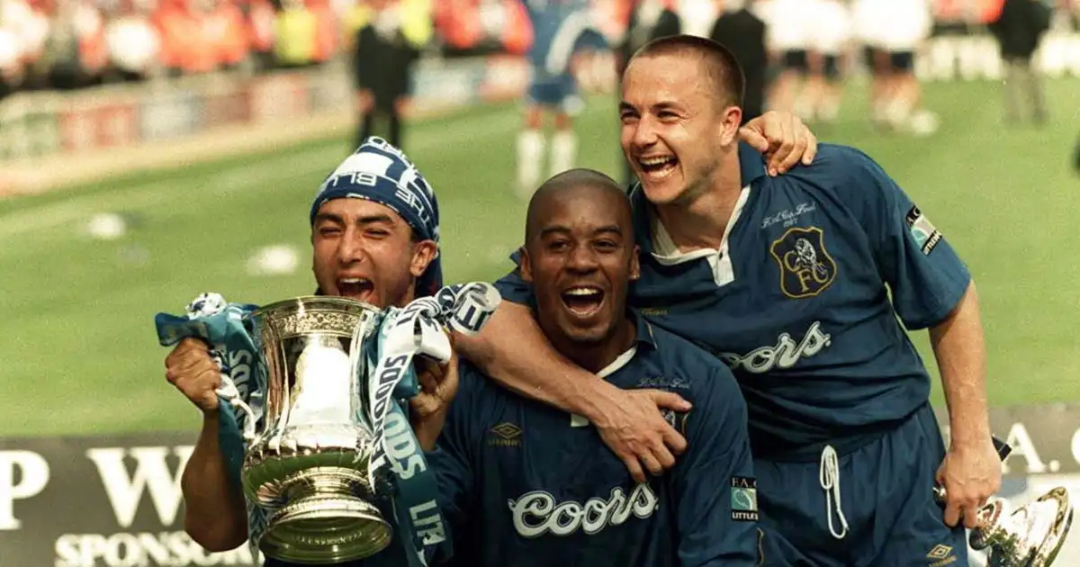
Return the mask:
[(757, 565), (746, 407), (724, 364), (626, 310), (638, 268), (630, 202), (616, 181), (570, 170), (534, 194), (522, 275), (544, 336), (617, 388), (693, 403), (669, 414), (690, 448), (669, 474), (638, 484), (594, 428), (463, 362), (429, 454), (456, 565)]

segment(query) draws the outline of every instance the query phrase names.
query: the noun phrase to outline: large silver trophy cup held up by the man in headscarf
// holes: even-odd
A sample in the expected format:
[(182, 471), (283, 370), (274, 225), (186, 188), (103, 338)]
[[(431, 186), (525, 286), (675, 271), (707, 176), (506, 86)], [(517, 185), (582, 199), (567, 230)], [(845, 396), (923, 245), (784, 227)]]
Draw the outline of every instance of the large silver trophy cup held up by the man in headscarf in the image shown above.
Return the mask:
[(244, 453), (248, 502), (266, 513), (267, 556), (308, 565), (378, 553), (390, 524), (372, 502), (366, 355), (380, 311), (340, 297), (298, 297), (248, 315), (266, 369), (264, 419)]

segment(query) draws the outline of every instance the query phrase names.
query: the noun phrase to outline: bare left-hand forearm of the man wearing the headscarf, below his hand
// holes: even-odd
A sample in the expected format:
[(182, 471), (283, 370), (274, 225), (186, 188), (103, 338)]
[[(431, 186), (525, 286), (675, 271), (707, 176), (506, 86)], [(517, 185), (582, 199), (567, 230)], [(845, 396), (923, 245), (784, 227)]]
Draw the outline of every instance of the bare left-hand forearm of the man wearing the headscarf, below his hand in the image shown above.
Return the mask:
[(247, 540), (243, 492), (233, 484), (221, 451), (221, 419), (219, 410), (204, 414), (199, 441), (180, 477), (184, 530), (210, 552), (233, 550)]

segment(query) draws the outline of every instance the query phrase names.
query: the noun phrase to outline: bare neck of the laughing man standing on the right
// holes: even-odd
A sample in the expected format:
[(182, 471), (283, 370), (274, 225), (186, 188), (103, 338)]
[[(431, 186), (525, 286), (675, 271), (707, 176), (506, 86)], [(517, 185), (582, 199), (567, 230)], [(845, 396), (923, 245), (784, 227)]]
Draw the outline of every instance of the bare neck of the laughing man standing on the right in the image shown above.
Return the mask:
[(716, 173), (706, 184), (686, 201), (656, 207), (657, 218), (681, 252), (720, 247), (724, 231), (742, 192), (742, 173), (735, 149), (721, 158)]

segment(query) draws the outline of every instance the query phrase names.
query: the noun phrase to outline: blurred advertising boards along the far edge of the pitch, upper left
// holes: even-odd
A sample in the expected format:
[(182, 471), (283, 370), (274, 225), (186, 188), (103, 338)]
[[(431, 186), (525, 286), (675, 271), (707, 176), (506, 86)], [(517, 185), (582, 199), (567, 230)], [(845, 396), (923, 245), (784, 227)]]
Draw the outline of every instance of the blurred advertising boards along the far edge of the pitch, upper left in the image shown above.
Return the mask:
[[(413, 108), (437, 113), (521, 94), (528, 68), (518, 57), (423, 60)], [(210, 130), (351, 116), (348, 67), (220, 73), (72, 92), (17, 93), (0, 102), (0, 162), (153, 144)]]

